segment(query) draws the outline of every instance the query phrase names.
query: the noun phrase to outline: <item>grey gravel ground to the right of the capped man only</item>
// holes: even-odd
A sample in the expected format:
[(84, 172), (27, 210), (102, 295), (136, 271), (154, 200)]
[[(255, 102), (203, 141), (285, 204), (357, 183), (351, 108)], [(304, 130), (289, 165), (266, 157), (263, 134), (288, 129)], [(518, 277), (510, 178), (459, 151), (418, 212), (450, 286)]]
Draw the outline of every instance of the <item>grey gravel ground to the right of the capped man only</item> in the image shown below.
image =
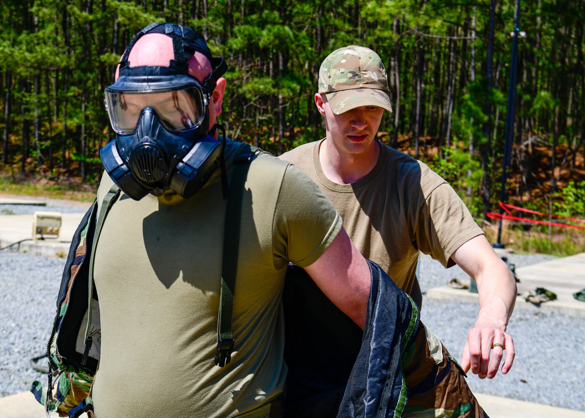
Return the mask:
[[(553, 258), (539, 254), (508, 255), (508, 261), (517, 267)], [(430, 256), (421, 257), (419, 273), (423, 293), (431, 287), (446, 285), (453, 277), (469, 279), (459, 266), (444, 269)], [(478, 312), (476, 303), (424, 296), (421, 319), (459, 360), (467, 331), (473, 327)], [(469, 374), (467, 383), (472, 391), (585, 411), (585, 318), (516, 309), (507, 332), (514, 339), (516, 351), (512, 369), (491, 380)]]

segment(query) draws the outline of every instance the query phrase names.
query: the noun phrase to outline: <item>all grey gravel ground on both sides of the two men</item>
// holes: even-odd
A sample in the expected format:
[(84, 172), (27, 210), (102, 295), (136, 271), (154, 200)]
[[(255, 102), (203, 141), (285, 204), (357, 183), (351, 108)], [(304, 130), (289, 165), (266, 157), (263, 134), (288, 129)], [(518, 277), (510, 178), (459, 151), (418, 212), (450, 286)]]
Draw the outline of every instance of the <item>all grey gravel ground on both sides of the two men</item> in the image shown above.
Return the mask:
[[(551, 259), (541, 255), (510, 255), (517, 266)], [(55, 315), (65, 259), (0, 252), (0, 396), (28, 389), (38, 378), (29, 359), (46, 350)], [(445, 285), (467, 276), (457, 266), (443, 269), (430, 257), (421, 260), (421, 288)], [(422, 320), (460, 359), (467, 330), (479, 307), (424, 297)], [(483, 381), (470, 375), (474, 392), (585, 411), (585, 318), (518, 309), (508, 327), (516, 347), (508, 375)]]

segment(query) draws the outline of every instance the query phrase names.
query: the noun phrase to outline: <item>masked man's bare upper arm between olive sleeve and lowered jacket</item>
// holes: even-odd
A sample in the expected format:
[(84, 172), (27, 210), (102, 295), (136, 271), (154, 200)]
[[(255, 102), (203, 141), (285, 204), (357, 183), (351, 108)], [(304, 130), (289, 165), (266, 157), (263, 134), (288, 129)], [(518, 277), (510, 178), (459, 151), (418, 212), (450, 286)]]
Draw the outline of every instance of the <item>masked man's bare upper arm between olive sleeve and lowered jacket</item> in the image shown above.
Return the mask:
[(341, 228), (325, 252), (305, 271), (335, 306), (364, 329), (371, 273), (363, 255)]

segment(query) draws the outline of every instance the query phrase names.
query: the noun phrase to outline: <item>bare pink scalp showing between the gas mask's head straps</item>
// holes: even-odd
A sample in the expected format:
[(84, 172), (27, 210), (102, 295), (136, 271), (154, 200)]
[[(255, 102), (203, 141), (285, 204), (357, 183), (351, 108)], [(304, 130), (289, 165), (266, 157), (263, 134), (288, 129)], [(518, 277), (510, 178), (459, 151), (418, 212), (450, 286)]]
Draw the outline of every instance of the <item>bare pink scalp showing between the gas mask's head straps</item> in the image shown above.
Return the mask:
[[(147, 33), (132, 46), (128, 62), (130, 67), (168, 67), (170, 60), (173, 60), (174, 57), (173, 39), (170, 36), (163, 35), (163, 33)], [(198, 51), (195, 51), (188, 64), (189, 75), (197, 78), (199, 83), (203, 83), (213, 70), (207, 57)], [(118, 80), (119, 68), (120, 66), (118, 65), (118, 68), (116, 68), (116, 80)]]

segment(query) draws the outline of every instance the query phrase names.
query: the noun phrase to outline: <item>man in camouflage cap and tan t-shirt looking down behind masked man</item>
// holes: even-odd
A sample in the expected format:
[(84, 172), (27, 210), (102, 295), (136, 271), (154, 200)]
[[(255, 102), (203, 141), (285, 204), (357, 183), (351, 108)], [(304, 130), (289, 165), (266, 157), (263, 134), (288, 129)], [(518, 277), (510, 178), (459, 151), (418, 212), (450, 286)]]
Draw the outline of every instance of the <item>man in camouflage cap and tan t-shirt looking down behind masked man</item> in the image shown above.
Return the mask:
[[(505, 333), (516, 296), (514, 277), (445, 180), (424, 163), (376, 140), (384, 110), (392, 112), (380, 57), (355, 45), (333, 51), (321, 64), (315, 104), (325, 117), (326, 138), (280, 158), (318, 184), (360, 252), (378, 263), (419, 306), (422, 294), (415, 275), (419, 251), (445, 268), (457, 264), (469, 274), (477, 282), (480, 312), (463, 348), (463, 369), (471, 368), (481, 379), (493, 378), (506, 350), (502, 372), (507, 373), (514, 360), (514, 342)], [(412, 395), (408, 406), (459, 408), (463, 413), (463, 405), (470, 403), (474, 409), (477, 402), (463, 374), (455, 374), (453, 368), (439, 379), (435, 364), (428, 364), (433, 348), (439, 368), (450, 355), (444, 347), (436, 348), (441, 342), (424, 329), (426, 335), (419, 337), (428, 342), (426, 357), (425, 350), (417, 350), (404, 364)], [(429, 379), (434, 387), (422, 388), (421, 382)]]

